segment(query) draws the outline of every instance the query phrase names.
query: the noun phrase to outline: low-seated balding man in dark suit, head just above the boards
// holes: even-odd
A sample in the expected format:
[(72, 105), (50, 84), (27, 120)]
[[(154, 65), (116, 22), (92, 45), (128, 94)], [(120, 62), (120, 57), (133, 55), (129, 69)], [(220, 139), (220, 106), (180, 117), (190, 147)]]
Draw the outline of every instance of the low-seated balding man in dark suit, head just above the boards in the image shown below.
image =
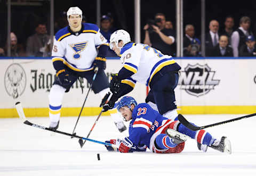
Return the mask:
[(228, 36), (220, 36), (219, 44), (213, 47), (210, 56), (233, 57), (233, 49), (228, 45)]

